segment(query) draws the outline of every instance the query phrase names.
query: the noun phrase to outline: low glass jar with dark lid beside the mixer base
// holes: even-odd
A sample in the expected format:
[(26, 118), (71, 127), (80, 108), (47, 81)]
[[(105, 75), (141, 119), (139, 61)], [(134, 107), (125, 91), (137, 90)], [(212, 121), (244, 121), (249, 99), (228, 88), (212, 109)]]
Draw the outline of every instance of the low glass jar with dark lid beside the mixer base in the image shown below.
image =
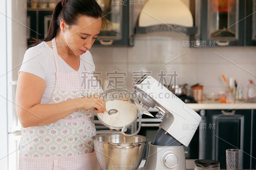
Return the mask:
[(195, 160), (194, 170), (220, 170), (220, 162), (209, 159)]

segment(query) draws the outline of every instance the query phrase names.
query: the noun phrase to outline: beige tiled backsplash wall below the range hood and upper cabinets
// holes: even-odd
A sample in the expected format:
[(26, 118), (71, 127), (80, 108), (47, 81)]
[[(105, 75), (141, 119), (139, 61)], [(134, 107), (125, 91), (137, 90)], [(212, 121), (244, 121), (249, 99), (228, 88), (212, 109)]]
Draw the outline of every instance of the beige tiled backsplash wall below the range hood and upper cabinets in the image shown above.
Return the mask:
[(165, 84), (176, 70), (176, 84), (200, 82), (204, 93), (227, 90), (221, 74), (236, 79), (238, 88), (245, 93), (248, 79), (256, 81), (256, 47), (186, 48), (182, 45), (184, 41), (189, 38), (180, 33), (137, 34), (133, 47), (93, 46), (90, 52), (96, 72), (102, 74), (99, 79), (103, 88), (108, 84), (108, 73), (109, 79), (118, 78), (113, 78), (113, 85), (132, 91), (140, 71), (151, 73)]

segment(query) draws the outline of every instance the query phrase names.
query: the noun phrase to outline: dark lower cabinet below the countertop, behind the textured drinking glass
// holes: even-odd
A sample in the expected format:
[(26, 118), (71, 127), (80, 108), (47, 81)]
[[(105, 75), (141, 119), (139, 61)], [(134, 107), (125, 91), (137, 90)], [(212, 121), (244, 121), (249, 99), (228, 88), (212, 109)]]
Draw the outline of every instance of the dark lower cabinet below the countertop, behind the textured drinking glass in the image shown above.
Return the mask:
[(254, 110), (201, 110), (200, 115), (206, 127), (199, 129), (199, 159), (218, 160), (220, 169), (226, 169), (226, 149), (238, 148), (241, 169), (255, 168)]

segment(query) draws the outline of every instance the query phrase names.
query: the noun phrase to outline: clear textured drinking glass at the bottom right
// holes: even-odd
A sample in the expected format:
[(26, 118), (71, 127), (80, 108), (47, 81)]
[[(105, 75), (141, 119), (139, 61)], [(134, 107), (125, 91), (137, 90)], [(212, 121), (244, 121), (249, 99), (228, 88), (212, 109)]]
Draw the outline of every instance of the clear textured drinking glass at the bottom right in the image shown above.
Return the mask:
[(227, 170), (240, 170), (241, 150), (227, 149), (226, 150), (226, 165)]

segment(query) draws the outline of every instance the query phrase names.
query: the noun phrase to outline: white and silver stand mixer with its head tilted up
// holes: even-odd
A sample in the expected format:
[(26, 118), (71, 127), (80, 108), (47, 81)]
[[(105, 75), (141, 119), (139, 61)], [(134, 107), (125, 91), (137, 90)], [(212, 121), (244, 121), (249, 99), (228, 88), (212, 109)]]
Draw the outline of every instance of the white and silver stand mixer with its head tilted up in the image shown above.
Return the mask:
[[(149, 75), (144, 75), (134, 89), (141, 107), (156, 107), (156, 117), (162, 120), (154, 140), (148, 143), (144, 169), (185, 170), (183, 145), (188, 146), (194, 136), (200, 115)], [(191, 128), (184, 128), (188, 125)]]

